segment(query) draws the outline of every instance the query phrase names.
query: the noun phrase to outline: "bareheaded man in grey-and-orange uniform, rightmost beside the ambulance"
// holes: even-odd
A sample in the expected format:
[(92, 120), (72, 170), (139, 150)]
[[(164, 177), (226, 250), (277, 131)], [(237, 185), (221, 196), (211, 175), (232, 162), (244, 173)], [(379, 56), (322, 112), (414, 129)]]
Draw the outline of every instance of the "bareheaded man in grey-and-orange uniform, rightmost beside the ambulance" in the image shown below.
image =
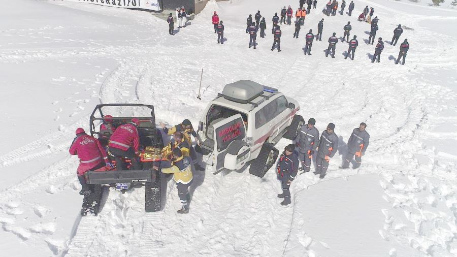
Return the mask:
[(347, 141), (347, 153), (343, 157), (343, 166), (341, 169), (349, 168), (349, 163), (355, 155), (355, 164), (352, 165), (353, 169), (357, 169), (362, 164), (362, 155), (368, 148), (370, 141), (370, 134), (366, 131), (367, 124), (360, 123), (359, 127), (354, 128), (349, 140)]

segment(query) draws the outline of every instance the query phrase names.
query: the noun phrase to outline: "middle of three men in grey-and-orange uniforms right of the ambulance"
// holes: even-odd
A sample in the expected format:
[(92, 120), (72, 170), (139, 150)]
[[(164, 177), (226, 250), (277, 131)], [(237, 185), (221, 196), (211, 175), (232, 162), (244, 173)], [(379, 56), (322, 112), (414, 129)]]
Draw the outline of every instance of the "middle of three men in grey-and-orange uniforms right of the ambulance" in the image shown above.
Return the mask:
[(329, 168), (330, 158), (332, 158), (338, 150), (338, 136), (334, 132), (335, 124), (329, 123), (327, 130), (323, 131), (320, 135), (317, 157), (316, 157), (316, 171), (314, 174), (320, 174), (319, 178), (322, 179), (327, 173)]

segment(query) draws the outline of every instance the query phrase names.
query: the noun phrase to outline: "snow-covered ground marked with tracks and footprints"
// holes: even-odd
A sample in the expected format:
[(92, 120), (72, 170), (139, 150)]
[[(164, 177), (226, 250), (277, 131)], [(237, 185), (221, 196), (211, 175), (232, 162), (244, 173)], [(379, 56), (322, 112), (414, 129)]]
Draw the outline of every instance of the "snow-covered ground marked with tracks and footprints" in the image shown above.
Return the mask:
[[(448, 0), (447, 0), (448, 1)], [(457, 13), (407, 1), (354, 1), (353, 16), (306, 17), (300, 39), (281, 26), (282, 52), (271, 52), (271, 17), (298, 1), (210, 2), (189, 26), (167, 33), (150, 13), (65, 1), (16, 0), (0, 9), (0, 250), (13, 256), (454, 256), (457, 254)], [(373, 6), (385, 49), (370, 63)], [(346, 7), (347, 9), (347, 7)], [(225, 25), (216, 44), (210, 17)], [(247, 48), (248, 14), (266, 16), (267, 36)], [(295, 10), (294, 10), (295, 11)], [(323, 41), (303, 55), (304, 35), (325, 18)], [(351, 21), (360, 46), (353, 61), (325, 58), (327, 39)], [(395, 65), (400, 41), (411, 44)], [(196, 98), (204, 69), (203, 98)], [(300, 114), (329, 122), (340, 136), (328, 176), (303, 174), (292, 204), (281, 207), (273, 170), (195, 173), (191, 211), (179, 208), (173, 181), (165, 208), (144, 212), (144, 188), (109, 191), (97, 217), (79, 217), (78, 160), (68, 155), (75, 128), (87, 128), (98, 103), (146, 103), (157, 122), (200, 120), (226, 83), (240, 79), (279, 87), (301, 104)], [(370, 147), (358, 170), (339, 170), (345, 142), (360, 122)], [(277, 148), (289, 143), (281, 140)]]

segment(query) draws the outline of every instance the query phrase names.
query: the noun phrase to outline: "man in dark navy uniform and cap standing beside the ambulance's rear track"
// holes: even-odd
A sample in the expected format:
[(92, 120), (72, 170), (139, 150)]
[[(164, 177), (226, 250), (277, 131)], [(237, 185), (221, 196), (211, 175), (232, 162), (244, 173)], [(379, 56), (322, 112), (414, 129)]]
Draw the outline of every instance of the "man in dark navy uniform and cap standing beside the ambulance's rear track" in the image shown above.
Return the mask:
[(281, 156), (279, 157), (278, 164), (277, 164), (277, 171), (278, 171), (278, 179), (281, 181), (282, 185), (282, 194), (278, 195), (278, 198), (283, 198), (284, 201), (281, 202), (281, 205), (289, 205), (290, 201), (290, 184), (297, 176), (298, 167), (299, 167), (299, 159), (295, 152), (295, 145), (290, 144), (284, 148), (284, 152), (282, 152)]

